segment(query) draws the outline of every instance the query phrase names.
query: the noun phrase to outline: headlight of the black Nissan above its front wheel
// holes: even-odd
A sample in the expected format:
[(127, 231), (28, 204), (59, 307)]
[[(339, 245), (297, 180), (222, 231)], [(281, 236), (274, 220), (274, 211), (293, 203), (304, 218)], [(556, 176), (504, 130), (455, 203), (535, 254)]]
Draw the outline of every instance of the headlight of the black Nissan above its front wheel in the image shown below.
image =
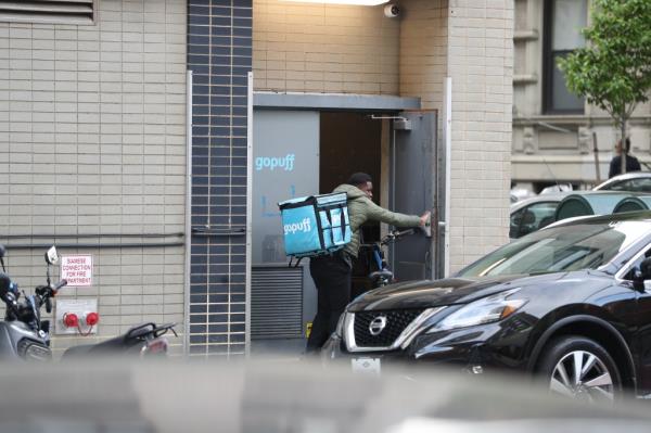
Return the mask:
[(512, 289), (472, 302), (434, 324), (427, 332), (447, 331), (503, 320), (520, 309), (526, 300), (507, 300), (520, 291)]

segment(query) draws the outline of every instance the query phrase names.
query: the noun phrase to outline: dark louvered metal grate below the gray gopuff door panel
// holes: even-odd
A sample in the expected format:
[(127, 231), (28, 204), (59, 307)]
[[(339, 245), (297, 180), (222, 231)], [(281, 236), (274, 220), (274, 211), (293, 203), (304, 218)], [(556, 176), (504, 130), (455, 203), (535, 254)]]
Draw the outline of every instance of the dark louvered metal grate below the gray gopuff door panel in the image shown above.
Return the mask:
[(253, 267), (251, 339), (303, 336), (303, 268)]

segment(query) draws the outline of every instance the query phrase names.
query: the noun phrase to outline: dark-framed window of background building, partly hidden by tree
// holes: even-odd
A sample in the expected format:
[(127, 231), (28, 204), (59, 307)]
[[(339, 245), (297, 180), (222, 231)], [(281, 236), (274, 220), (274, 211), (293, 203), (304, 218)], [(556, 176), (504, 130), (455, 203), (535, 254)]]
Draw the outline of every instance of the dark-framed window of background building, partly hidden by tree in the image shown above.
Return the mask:
[(588, 0), (546, 0), (542, 106), (546, 114), (584, 112), (584, 99), (567, 90), (558, 59), (585, 46), (580, 29), (588, 21)]

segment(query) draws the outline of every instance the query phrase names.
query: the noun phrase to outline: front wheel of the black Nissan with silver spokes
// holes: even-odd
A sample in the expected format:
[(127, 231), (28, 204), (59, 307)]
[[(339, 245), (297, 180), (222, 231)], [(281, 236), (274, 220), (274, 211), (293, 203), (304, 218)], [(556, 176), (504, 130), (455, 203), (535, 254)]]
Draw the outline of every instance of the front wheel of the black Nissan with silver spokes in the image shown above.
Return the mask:
[(570, 335), (545, 348), (539, 372), (549, 392), (589, 403), (612, 404), (622, 394), (622, 379), (613, 358), (597, 342)]

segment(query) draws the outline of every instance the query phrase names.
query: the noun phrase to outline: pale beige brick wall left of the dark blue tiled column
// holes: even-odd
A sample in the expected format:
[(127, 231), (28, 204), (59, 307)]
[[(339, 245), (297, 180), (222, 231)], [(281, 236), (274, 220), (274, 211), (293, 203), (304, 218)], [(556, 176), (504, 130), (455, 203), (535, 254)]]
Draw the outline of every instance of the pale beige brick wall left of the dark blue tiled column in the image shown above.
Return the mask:
[[(93, 26), (0, 23), (0, 242), (183, 231), (187, 4), (98, 4)], [(119, 241), (132, 240), (102, 242)], [(8, 253), (27, 291), (44, 281), (43, 251)], [(61, 253), (93, 255), (93, 286), (62, 297), (99, 297), (101, 336), (145, 320), (182, 323), (182, 246)]]

